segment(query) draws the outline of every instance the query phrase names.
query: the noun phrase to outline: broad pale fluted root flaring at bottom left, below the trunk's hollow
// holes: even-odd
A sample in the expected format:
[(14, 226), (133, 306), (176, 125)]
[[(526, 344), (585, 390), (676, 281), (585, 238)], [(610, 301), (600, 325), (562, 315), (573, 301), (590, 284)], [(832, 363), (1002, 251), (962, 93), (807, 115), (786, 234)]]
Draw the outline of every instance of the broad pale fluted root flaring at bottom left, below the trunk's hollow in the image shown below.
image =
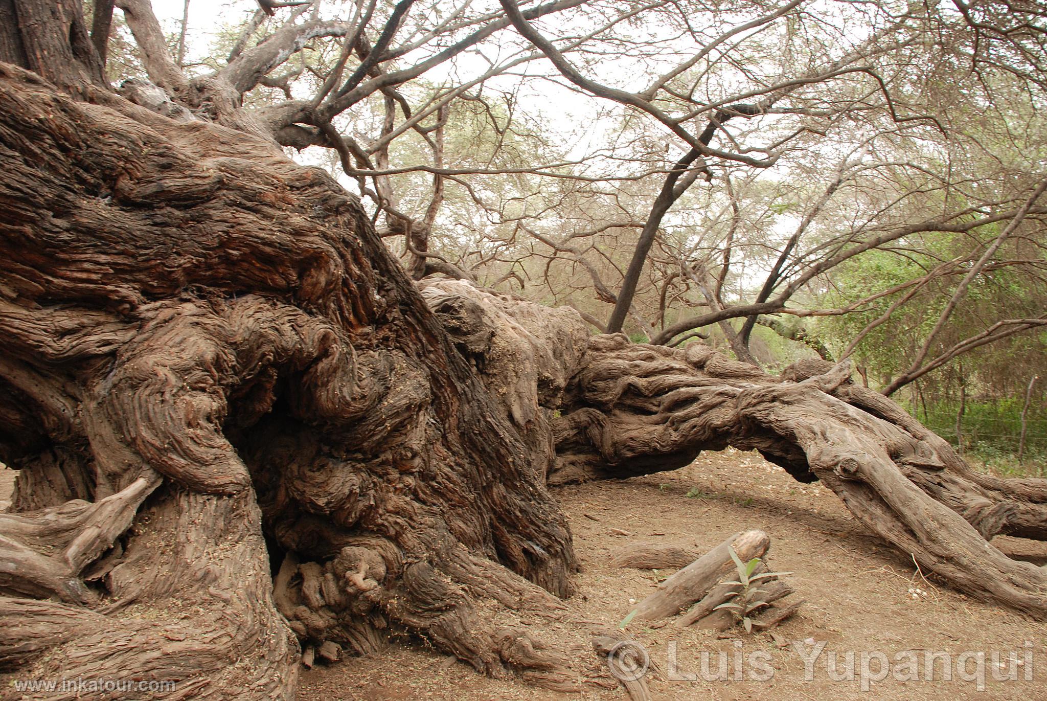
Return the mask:
[[(3, 669), (18, 664), (29, 679), (176, 681), (163, 698), (290, 698), (297, 643), (272, 607), (250, 491), (160, 487), (106, 577), (111, 598), (94, 610), (0, 597)], [(75, 688), (40, 696), (82, 698)]]

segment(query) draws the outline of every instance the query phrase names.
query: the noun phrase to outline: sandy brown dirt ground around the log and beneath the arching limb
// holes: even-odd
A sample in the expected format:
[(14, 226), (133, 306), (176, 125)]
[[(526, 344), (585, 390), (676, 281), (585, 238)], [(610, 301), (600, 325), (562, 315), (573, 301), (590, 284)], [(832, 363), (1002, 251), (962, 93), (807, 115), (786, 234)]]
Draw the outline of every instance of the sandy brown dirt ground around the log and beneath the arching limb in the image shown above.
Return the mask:
[[(0, 501), (9, 499), (13, 477), (0, 468)], [(773, 637), (630, 622), (627, 632), (656, 670), (648, 676), (655, 699), (1047, 701), (1047, 626), (925, 579), (911, 558), (865, 532), (830, 491), (797, 483), (755, 453), (703, 454), (675, 472), (555, 494), (583, 571), (567, 609), (532, 628), (591, 666), (593, 681), (580, 694), (488, 679), (424, 640), (404, 638), (374, 655), (304, 671), (298, 698), (624, 699), (588, 641), (671, 572), (616, 569), (611, 554), (640, 541), (705, 552), (737, 530), (761, 528), (772, 538), (771, 567), (793, 572), (786, 578), (794, 598), (806, 603)], [(1013, 556), (1047, 563), (1047, 544), (1000, 541)], [(914, 598), (910, 590), (917, 588), (925, 594)]]

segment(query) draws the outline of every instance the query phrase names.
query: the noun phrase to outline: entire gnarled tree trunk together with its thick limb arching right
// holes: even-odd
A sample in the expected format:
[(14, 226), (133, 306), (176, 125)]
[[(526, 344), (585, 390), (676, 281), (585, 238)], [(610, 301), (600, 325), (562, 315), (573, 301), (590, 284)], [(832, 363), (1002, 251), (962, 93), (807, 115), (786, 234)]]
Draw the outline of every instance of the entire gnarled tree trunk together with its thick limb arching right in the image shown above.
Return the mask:
[(407, 631), (571, 688), (580, 664), (521, 626), (571, 593), (547, 482), (729, 444), (1047, 616), (1044, 571), (986, 544), (1047, 534), (1044, 482), (971, 473), (842, 369), (775, 378), (416, 288), (270, 140), (73, 92), (0, 64), (0, 667), (290, 698), (303, 650)]

